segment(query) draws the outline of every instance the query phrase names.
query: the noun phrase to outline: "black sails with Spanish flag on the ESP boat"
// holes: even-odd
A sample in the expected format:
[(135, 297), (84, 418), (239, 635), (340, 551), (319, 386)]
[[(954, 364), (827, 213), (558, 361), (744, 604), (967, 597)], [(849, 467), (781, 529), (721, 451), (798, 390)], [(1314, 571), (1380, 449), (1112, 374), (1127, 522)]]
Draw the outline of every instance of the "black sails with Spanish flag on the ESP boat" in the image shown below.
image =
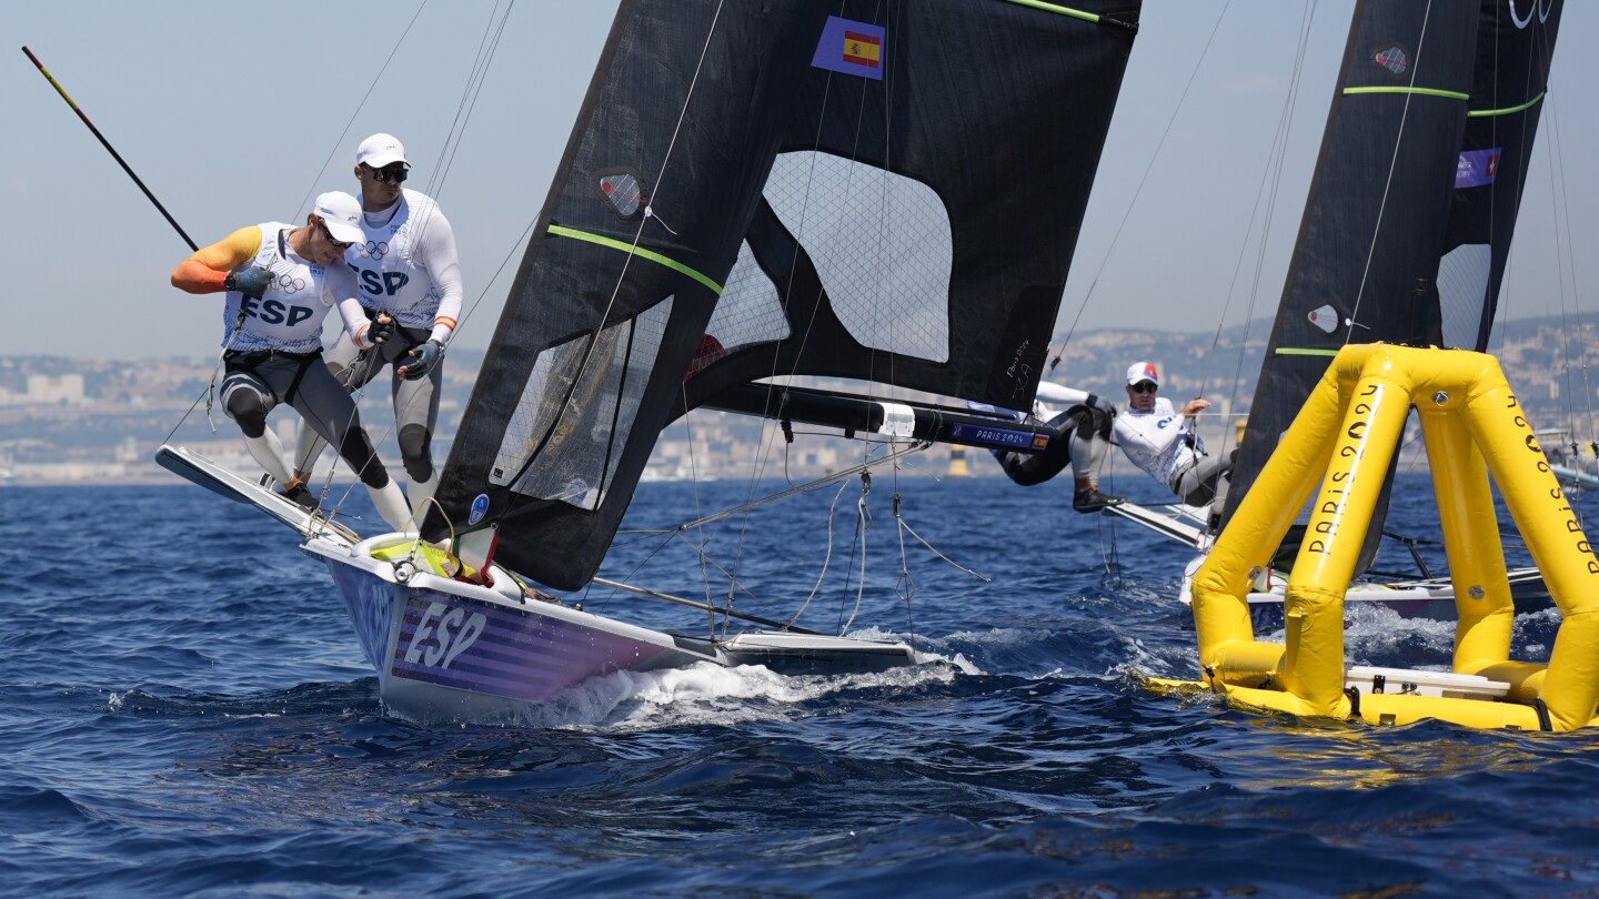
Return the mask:
[(451, 448), (451, 521), (576, 589), (660, 429), (761, 411), (740, 386), (1027, 408), (1138, 14), (1071, 6), (624, 0)]

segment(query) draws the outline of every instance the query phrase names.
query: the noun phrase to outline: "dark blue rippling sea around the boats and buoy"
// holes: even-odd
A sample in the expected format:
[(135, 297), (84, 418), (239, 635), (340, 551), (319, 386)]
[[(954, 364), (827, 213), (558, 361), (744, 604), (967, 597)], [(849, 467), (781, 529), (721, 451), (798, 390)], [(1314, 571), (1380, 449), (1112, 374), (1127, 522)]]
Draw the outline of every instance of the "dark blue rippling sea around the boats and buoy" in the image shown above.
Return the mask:
[[(1428, 481), (1407, 485), (1390, 529), (1436, 539)], [(784, 617), (815, 590), (804, 624), (947, 664), (611, 675), (526, 720), (424, 725), (384, 709), (326, 569), (253, 509), (177, 481), (0, 489), (0, 893), (1599, 894), (1599, 734), (1148, 693), (1198, 673), (1188, 553), (1073, 513), (1065, 483), (905, 469), (860, 531), (849, 481), (638, 533), (779, 486), (643, 485), (604, 573), (721, 601), (704, 573), (737, 569), (737, 608)], [(1519, 617), (1517, 657), (1556, 627)], [(1445, 665), (1452, 637), (1374, 614), (1350, 661)]]

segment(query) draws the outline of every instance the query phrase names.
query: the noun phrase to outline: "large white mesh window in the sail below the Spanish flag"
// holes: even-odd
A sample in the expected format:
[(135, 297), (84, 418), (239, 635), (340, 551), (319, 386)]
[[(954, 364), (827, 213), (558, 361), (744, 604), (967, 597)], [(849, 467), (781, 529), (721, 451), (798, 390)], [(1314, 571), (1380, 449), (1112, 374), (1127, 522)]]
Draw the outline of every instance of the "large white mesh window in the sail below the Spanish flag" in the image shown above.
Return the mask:
[(950, 360), (950, 213), (926, 184), (833, 154), (780, 154), (766, 202), (862, 346)]

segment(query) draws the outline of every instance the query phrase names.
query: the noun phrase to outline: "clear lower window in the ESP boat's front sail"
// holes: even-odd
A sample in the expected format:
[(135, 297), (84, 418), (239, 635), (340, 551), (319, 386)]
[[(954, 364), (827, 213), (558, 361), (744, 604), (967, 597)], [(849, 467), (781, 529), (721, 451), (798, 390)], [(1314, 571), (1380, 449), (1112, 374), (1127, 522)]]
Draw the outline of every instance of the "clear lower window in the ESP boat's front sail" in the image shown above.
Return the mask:
[(598, 509), (638, 419), (672, 301), (668, 296), (601, 330), (587, 370), (587, 336), (539, 354), (494, 456), (489, 483), (534, 499)]

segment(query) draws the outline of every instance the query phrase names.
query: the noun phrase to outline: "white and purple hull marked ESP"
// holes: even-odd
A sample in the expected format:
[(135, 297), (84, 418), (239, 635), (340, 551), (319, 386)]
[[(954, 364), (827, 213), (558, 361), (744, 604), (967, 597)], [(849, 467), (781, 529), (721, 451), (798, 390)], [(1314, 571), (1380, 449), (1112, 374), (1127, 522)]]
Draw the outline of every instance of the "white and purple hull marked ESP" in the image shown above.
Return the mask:
[(384, 704), (417, 720), (502, 720), (596, 675), (694, 664), (761, 664), (787, 673), (884, 670), (929, 661), (905, 643), (758, 632), (728, 641), (675, 637), (524, 592), (500, 568), (492, 587), (454, 581), (382, 550), (312, 537), (344, 597)]

